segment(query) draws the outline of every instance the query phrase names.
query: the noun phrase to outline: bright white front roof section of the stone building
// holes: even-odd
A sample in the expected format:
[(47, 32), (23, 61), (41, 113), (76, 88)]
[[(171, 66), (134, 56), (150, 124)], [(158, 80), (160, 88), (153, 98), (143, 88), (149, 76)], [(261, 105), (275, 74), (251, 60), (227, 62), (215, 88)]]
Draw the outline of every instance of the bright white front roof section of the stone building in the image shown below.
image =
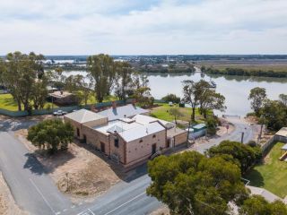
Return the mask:
[(109, 122), (108, 125), (94, 127), (94, 129), (100, 133), (106, 134), (114, 133), (112, 130), (115, 130), (126, 142), (131, 142), (152, 133), (158, 133), (165, 130), (158, 122), (143, 125), (137, 122), (126, 123), (120, 120)]

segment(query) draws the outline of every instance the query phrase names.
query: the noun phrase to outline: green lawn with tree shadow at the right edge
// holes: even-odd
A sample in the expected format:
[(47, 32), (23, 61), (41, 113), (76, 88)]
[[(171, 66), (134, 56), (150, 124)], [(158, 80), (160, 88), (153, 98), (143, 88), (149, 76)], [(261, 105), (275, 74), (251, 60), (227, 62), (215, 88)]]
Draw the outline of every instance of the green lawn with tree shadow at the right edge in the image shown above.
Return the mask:
[(265, 157), (265, 163), (257, 165), (245, 176), (251, 181), (250, 185), (264, 187), (282, 198), (287, 195), (287, 162), (279, 160), (283, 145), (277, 142)]

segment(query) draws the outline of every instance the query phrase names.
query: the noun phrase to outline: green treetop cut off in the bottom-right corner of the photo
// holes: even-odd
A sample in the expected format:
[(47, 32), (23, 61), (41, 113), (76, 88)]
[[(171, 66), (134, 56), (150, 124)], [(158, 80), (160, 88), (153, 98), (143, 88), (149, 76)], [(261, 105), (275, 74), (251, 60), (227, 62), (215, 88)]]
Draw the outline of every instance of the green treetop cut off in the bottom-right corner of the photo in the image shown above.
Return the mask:
[(253, 195), (239, 208), (240, 215), (285, 215), (287, 207), (281, 201), (267, 202), (260, 195)]

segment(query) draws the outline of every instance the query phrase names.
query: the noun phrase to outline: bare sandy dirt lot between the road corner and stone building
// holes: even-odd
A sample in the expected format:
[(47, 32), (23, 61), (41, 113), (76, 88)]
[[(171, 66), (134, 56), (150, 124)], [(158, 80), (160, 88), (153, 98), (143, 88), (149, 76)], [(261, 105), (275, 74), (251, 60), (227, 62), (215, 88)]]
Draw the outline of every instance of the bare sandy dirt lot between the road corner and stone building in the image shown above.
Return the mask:
[(104, 193), (124, 176), (121, 168), (111, 163), (100, 153), (92, 152), (87, 145), (73, 142), (67, 151), (58, 151), (53, 156), (42, 156), (26, 140), (27, 130), (19, 130), (16, 136), (34, 153), (53, 178), (60, 191), (68, 193), (74, 202), (89, 199)]

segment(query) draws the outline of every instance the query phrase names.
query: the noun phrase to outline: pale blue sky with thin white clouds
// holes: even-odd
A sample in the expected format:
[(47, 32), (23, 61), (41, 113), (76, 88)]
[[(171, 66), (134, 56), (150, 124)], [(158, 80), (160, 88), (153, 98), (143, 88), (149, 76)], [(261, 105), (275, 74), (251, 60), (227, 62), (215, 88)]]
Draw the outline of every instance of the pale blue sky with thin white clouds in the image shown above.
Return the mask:
[(0, 30), (0, 55), (287, 54), (287, 0), (3, 0)]

